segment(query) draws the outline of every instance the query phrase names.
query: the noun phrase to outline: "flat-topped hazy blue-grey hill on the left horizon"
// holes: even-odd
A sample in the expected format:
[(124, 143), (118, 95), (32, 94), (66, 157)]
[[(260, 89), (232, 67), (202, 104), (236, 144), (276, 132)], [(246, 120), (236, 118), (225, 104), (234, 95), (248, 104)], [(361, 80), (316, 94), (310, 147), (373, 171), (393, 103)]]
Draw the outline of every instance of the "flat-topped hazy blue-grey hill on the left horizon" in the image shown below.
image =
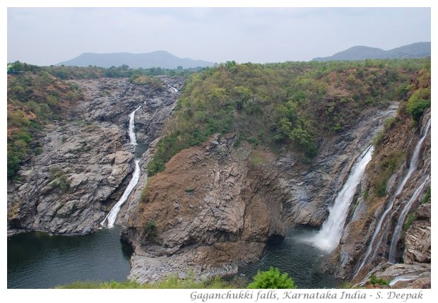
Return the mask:
[(146, 54), (130, 54), (127, 52), (112, 54), (84, 53), (69, 61), (61, 62), (57, 65), (65, 66), (99, 66), (111, 67), (128, 65), (131, 68), (149, 69), (151, 67), (161, 67), (162, 69), (177, 69), (182, 66), (184, 69), (212, 66), (213, 62), (193, 60), (189, 58), (179, 58), (165, 51), (150, 52)]

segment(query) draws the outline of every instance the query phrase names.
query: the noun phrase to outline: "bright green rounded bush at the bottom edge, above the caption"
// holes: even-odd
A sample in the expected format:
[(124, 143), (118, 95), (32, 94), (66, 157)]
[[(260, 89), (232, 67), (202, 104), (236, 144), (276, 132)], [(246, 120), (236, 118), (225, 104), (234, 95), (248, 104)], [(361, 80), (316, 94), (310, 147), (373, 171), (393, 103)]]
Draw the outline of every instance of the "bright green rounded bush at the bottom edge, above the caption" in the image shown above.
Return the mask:
[(254, 276), (254, 282), (249, 283), (250, 289), (289, 289), (297, 288), (288, 273), (280, 273), (278, 268), (269, 268), (269, 271), (258, 271)]

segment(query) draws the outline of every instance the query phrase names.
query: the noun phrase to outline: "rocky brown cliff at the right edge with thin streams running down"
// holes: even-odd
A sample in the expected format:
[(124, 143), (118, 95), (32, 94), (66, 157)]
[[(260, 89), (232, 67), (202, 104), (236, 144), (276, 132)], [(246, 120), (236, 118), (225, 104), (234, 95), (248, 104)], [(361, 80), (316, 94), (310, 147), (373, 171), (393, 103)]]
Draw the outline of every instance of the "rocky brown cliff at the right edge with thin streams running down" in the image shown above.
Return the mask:
[(359, 285), (375, 275), (391, 287), (430, 287), (430, 121), (430, 109), (416, 122), (403, 102), (381, 133), (333, 256), (336, 275)]

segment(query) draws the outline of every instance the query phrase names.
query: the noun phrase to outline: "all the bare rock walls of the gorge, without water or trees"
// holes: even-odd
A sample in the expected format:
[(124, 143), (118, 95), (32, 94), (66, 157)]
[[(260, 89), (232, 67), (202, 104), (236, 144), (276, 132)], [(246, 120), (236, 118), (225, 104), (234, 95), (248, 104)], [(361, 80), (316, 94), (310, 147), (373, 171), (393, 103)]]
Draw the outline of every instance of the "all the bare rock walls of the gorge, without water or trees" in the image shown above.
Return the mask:
[[(168, 275), (235, 274), (239, 266), (259, 259), (266, 245), (281, 242), (288, 227), (321, 227), (374, 139), (378, 146), (348, 209), (341, 242), (322, 267), (360, 286), (371, 287), (374, 275), (391, 281), (391, 287), (430, 287), (430, 201), (422, 203), (430, 187), (429, 110), (416, 125), (400, 109), (403, 102), (367, 108), (348, 129), (321, 139), (310, 163), (299, 153), (273, 153), (236, 133), (214, 133), (148, 177), (146, 167), (184, 85), (182, 77), (158, 78), (163, 85), (155, 88), (127, 78), (72, 81), (83, 98), (65, 120), (47, 126), (40, 154), (8, 184), (8, 233), (97, 231), (122, 196), (134, 158), (140, 158), (138, 185), (116, 220), (122, 239), (134, 247), (128, 278), (146, 283)], [(137, 148), (145, 153), (136, 153), (126, 131), (129, 113), (139, 106)], [(389, 119), (395, 119), (390, 128)], [(423, 137), (418, 169), (398, 192)], [(381, 163), (394, 155), (402, 160), (393, 165), (385, 193), (373, 195)], [(410, 200), (406, 216), (415, 212), (415, 222), (394, 240), (393, 254), (403, 263), (389, 263), (393, 230)], [(394, 215), (382, 219), (381, 232), (374, 235), (386, 209)], [(376, 254), (367, 256), (369, 246)]]

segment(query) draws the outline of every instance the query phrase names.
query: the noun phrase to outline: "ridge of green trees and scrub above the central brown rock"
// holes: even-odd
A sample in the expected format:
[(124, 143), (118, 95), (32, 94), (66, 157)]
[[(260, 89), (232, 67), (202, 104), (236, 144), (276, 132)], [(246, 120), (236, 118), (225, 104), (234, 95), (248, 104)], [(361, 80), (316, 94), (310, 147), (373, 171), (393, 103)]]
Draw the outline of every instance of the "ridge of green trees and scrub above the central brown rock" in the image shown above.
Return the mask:
[(402, 100), (410, 76), (430, 59), (236, 64), (189, 76), (148, 174), (213, 133), (271, 150), (294, 150), (312, 162), (324, 136), (348, 129), (360, 113)]

